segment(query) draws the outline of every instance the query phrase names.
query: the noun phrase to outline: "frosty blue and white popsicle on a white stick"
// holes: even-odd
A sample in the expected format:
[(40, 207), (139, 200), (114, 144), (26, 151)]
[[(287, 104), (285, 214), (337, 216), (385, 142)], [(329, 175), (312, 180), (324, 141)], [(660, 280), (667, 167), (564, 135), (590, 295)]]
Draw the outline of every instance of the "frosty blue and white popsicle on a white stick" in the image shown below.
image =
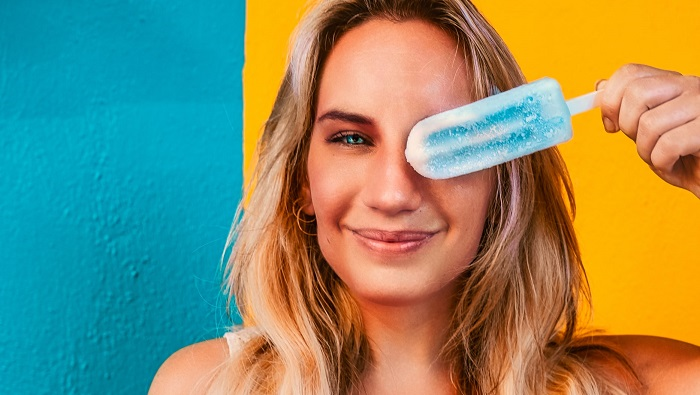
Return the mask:
[(406, 159), (424, 177), (472, 173), (571, 139), (571, 117), (594, 107), (598, 92), (564, 99), (542, 78), (418, 122)]

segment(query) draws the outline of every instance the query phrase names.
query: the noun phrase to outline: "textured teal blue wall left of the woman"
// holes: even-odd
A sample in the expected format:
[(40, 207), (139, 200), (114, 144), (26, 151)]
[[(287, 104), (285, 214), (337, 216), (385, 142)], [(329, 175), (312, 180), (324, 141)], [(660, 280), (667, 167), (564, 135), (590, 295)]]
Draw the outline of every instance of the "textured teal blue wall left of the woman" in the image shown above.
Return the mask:
[(145, 393), (227, 325), (243, 0), (0, 6), (0, 393)]

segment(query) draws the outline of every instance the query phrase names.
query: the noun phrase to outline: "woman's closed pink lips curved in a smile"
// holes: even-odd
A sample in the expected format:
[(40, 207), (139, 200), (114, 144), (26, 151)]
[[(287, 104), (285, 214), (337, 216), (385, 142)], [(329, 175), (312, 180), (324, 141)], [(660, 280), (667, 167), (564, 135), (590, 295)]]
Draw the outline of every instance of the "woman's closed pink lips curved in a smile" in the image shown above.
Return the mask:
[(358, 241), (379, 253), (408, 253), (418, 250), (437, 232), (385, 231), (377, 229), (350, 229)]

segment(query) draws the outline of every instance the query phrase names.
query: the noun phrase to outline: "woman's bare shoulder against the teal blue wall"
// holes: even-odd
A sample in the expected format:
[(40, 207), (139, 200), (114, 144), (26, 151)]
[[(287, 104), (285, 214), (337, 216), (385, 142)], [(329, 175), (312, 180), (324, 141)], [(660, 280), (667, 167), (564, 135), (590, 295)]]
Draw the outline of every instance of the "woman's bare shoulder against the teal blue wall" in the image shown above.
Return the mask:
[(149, 395), (201, 394), (228, 358), (226, 339), (192, 344), (171, 355), (153, 378)]

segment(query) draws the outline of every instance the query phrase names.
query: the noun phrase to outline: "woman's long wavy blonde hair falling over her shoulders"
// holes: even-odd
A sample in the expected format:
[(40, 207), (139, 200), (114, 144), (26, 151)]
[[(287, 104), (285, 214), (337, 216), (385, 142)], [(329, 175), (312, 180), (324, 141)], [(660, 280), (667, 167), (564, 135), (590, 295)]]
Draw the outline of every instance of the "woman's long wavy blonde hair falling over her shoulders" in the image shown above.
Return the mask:
[[(324, 261), (311, 221), (299, 221), (306, 156), (323, 63), (337, 40), (373, 18), (420, 19), (463, 51), (472, 97), (525, 79), (495, 30), (468, 0), (328, 0), (300, 24), (258, 146), (255, 188), (229, 242), (227, 292), (259, 336), (222, 366), (211, 393), (345, 394), (361, 390), (370, 362), (356, 304)], [(497, 166), (479, 252), (443, 349), (460, 393), (628, 393), (595, 361), (610, 348), (579, 334), (588, 300), (573, 228), (575, 205), (555, 148)], [(634, 380), (632, 380), (634, 381)]]

